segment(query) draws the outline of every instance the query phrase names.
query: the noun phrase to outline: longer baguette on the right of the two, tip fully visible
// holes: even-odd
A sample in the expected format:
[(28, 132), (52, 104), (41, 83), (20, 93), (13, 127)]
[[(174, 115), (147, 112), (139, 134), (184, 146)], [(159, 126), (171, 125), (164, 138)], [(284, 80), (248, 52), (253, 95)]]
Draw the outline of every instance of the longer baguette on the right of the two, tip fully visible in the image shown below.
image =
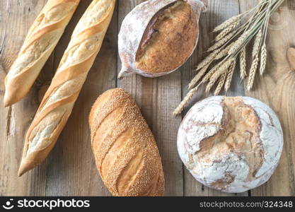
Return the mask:
[(76, 25), (69, 46), (25, 136), (18, 175), (50, 153), (66, 124), (110, 24), (115, 0), (93, 0)]

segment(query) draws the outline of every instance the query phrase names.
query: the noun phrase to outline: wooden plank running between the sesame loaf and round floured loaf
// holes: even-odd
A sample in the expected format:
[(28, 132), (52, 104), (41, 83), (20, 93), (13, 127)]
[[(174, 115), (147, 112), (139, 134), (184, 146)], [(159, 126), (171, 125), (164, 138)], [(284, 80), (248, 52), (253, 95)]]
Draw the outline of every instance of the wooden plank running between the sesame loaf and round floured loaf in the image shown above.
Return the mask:
[[(142, 1), (119, 1), (119, 25), (127, 13)], [(118, 59), (118, 71), (120, 71)], [(180, 71), (160, 78), (126, 76), (117, 81), (137, 100), (141, 112), (154, 133), (163, 162), (166, 196), (183, 196), (183, 167), (178, 157), (176, 134), (180, 117), (173, 117), (173, 110), (181, 100)]]

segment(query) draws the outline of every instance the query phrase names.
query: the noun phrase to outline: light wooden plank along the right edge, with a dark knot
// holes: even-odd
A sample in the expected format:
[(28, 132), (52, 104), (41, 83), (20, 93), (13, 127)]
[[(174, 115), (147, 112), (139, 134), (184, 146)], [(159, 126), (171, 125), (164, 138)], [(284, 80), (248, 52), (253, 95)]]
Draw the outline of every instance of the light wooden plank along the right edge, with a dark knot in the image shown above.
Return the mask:
[[(241, 11), (258, 1), (241, 1)], [(287, 1), (270, 20), (267, 38), (267, 71), (255, 79), (254, 89), (246, 94), (262, 100), (278, 114), (284, 131), (284, 150), (270, 180), (251, 191), (253, 196), (295, 196), (295, 72), (287, 61), (287, 49), (295, 45), (295, 2)], [(250, 57), (250, 55), (249, 55)]]

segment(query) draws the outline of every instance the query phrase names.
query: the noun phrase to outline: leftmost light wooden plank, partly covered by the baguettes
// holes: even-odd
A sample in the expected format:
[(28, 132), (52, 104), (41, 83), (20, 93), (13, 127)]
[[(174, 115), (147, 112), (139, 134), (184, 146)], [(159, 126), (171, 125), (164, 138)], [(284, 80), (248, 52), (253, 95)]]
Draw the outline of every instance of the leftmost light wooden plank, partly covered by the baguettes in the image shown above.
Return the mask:
[[(45, 0), (1, 1), (0, 64), (6, 72), (13, 60), (16, 59), (28, 28), (30, 28), (45, 2)], [(4, 109), (2, 106), (4, 98), (3, 71), (1, 71), (0, 80), (0, 195), (29, 195), (30, 175), (18, 178), (17, 172), (21, 160), (23, 137), (37, 109), (36, 90), (33, 88), (21, 102)], [(42, 189), (41, 187), (40, 184), (38, 191), (40, 195), (45, 192), (44, 187)]]

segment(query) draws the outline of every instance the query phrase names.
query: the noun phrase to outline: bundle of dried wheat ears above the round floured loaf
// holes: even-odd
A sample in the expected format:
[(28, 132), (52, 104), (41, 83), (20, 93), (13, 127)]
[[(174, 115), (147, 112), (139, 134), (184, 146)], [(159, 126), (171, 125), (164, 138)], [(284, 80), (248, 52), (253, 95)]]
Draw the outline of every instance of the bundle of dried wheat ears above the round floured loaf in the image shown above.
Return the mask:
[[(237, 59), (240, 61), (241, 78), (244, 79), (247, 76), (246, 46), (255, 37), (252, 64), (250, 66), (248, 85), (246, 88), (250, 90), (253, 87), (259, 62), (260, 74), (263, 73), (266, 66), (267, 50), (265, 37), (267, 34), (268, 20), (272, 13), (274, 13), (283, 2), (284, 0), (260, 0), (259, 4), (254, 8), (238, 16), (234, 16), (214, 28), (214, 32), (221, 32), (216, 36), (215, 43), (207, 50), (207, 52), (211, 53), (197, 66), (196, 70), (199, 71), (199, 73), (197, 73), (189, 84), (189, 88), (192, 88), (192, 90), (187, 93), (184, 100), (176, 108), (174, 111), (175, 115), (183, 111), (184, 107), (197, 92), (199, 86), (203, 83), (207, 83), (206, 91), (209, 92), (217, 82), (214, 92), (215, 95), (218, 95), (223, 87), (224, 90), (229, 90)], [(248, 13), (252, 13), (252, 15), (245, 16)], [(242, 18), (248, 19), (237, 28)], [(212, 61), (219, 59), (223, 60), (207, 72)], [(196, 84), (197, 86), (193, 88)]]

